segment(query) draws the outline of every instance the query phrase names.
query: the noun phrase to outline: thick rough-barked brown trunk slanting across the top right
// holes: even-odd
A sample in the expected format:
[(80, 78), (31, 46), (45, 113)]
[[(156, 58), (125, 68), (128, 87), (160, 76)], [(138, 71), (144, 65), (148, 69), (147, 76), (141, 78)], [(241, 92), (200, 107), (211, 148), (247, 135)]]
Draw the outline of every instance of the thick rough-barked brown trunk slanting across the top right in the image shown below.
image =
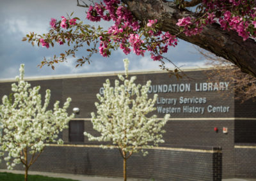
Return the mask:
[[(176, 25), (179, 18), (184, 16), (195, 17), (191, 11), (180, 11), (175, 2), (163, 0), (123, 0), (134, 17), (141, 22), (149, 19), (158, 19), (162, 22), (161, 30), (171, 34), (179, 33)], [(204, 31), (196, 36), (179, 34), (178, 38), (198, 45), (205, 50), (227, 59), (236, 64), (241, 71), (256, 77), (256, 43), (243, 38), (234, 31), (223, 31), (220, 25), (213, 24), (205, 27)]]

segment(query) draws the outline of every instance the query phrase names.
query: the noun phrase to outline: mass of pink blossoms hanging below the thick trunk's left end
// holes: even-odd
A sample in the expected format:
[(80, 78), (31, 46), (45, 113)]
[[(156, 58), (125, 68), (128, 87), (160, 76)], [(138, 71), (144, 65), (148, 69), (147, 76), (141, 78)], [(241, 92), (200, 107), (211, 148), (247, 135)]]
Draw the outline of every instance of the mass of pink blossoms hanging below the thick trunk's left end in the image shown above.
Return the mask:
[[(120, 5), (119, 0), (104, 0), (103, 3), (95, 3), (95, 6), (89, 7), (87, 18), (93, 22), (100, 21), (101, 19), (113, 20), (115, 22), (114, 25), (109, 27), (108, 33), (104, 36), (108, 37), (108, 40), (102, 38), (102, 36), (100, 37), (99, 52), (104, 57), (108, 56), (110, 39), (113, 40), (112, 43), (116, 43), (123, 50), (125, 55), (130, 54), (131, 48), (134, 54), (142, 56), (148, 50), (151, 52), (151, 57), (154, 61), (163, 59), (161, 54), (167, 52), (168, 46), (177, 45), (177, 38), (170, 34), (162, 36), (163, 40), (161, 40), (162, 32), (155, 29), (157, 20), (148, 20), (146, 27), (148, 32), (145, 33), (147, 37), (152, 37), (156, 40), (155, 48), (145, 45), (145, 41), (141, 40), (141, 30), (138, 21), (133, 18), (131, 12), (125, 6)], [(164, 44), (164, 46), (161, 46), (161, 44)]]

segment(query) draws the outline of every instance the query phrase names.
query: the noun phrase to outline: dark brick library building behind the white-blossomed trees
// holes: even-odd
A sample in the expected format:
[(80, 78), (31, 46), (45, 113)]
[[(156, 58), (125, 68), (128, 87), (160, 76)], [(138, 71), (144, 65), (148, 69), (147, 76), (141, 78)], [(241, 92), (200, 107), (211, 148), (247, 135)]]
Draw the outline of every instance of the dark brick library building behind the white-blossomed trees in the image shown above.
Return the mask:
[[(133, 154), (127, 160), (128, 178), (148, 180), (221, 180), (256, 178), (256, 102), (236, 99), (232, 82), (210, 82), (205, 69), (184, 69), (186, 76), (177, 80), (166, 71), (129, 71), (135, 83), (151, 80), (148, 96), (158, 94), (156, 114), (170, 119), (163, 127), (164, 143), (148, 149), (148, 155)], [(51, 144), (31, 166), (31, 171), (74, 173), (100, 177), (122, 177), (123, 159), (117, 148), (103, 149), (106, 142), (88, 141), (84, 131), (93, 129), (91, 113), (97, 112), (96, 94), (103, 94), (108, 78), (115, 85), (124, 71), (79, 75), (24, 78), (31, 87), (40, 85), (42, 98), (51, 90), (51, 105), (57, 100), (72, 102), (68, 113), (75, 112), (60, 138), (63, 145)], [(11, 92), (12, 80), (0, 80), (0, 97)], [(150, 113), (151, 115), (151, 113)], [(6, 163), (0, 163), (6, 169)], [(24, 170), (22, 164), (15, 167)]]

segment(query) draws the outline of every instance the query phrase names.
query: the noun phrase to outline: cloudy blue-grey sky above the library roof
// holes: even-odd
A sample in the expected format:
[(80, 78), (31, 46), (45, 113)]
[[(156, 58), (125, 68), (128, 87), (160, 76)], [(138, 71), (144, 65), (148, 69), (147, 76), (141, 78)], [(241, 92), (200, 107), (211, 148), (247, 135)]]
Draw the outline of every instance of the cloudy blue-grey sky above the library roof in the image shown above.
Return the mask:
[[(114, 52), (111, 57), (104, 58), (100, 55), (92, 57), (92, 64), (84, 64), (83, 67), (75, 68), (74, 59), (55, 65), (55, 70), (45, 66), (38, 68), (37, 65), (44, 57), (58, 55), (67, 49), (65, 46), (54, 48), (32, 47), (26, 41), (21, 41), (29, 32), (38, 34), (49, 31), (51, 18), (60, 20), (62, 15), (74, 11), (74, 16), (85, 20), (85, 9), (76, 6), (76, 0), (1, 0), (0, 1), (0, 79), (14, 78), (19, 75), (20, 64), (25, 64), (26, 76), (63, 75), (76, 73), (90, 73), (102, 71), (123, 70), (122, 59), (128, 57), (131, 61), (129, 69), (159, 69), (158, 62), (150, 59), (150, 55), (144, 57), (134, 54), (125, 55), (121, 50)], [(92, 24), (91, 22), (88, 22)], [(100, 22), (108, 27), (109, 22)], [(86, 51), (79, 51), (77, 57), (86, 55)], [(166, 57), (171, 59), (177, 66), (202, 66), (204, 62), (196, 53), (193, 45), (179, 41), (179, 45), (171, 48)]]

